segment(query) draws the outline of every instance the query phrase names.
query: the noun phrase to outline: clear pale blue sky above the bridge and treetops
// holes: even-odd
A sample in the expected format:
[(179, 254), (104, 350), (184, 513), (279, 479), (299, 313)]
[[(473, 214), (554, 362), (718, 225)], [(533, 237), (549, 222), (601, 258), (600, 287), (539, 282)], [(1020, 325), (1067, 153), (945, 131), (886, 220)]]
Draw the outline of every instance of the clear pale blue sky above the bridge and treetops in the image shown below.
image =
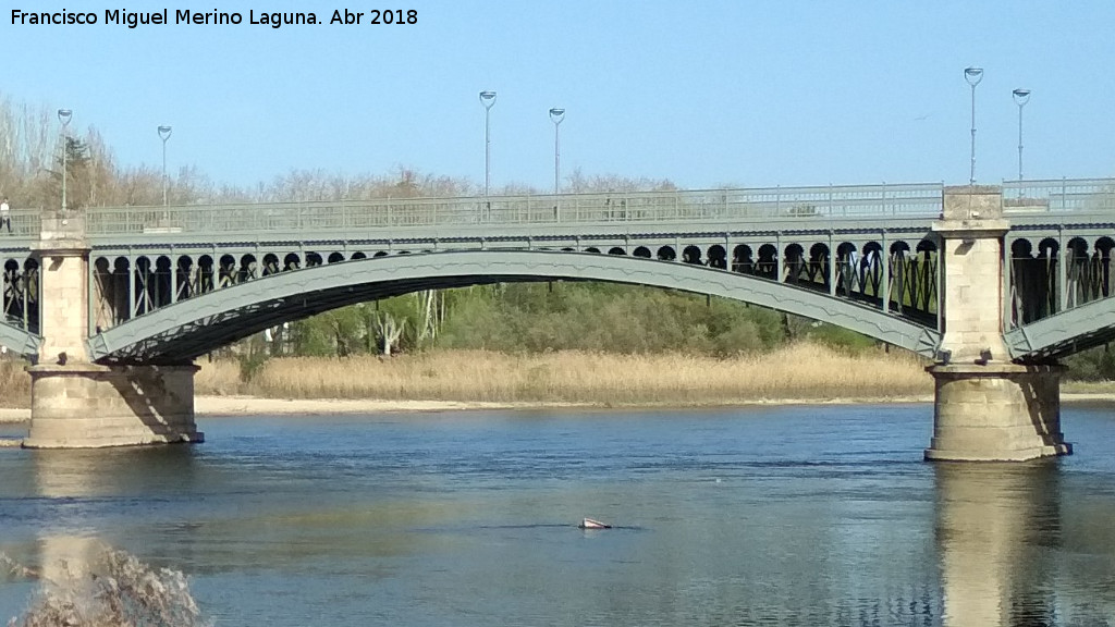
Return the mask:
[[(345, 2), (349, 2), (346, 4)], [(935, 182), (969, 174), (977, 88), (979, 182), (1115, 176), (1115, 2), (405, 0), (405, 26), (272, 29), (249, 11), (365, 12), (337, 0), (33, 0), (95, 26), (12, 25), (0, 13), (0, 91), (74, 110), (120, 163), (252, 185), (292, 168), (397, 166), (553, 185), (551, 107), (565, 107), (562, 171), (682, 187)], [(165, 26), (105, 11), (166, 8)], [(239, 11), (239, 26), (174, 25), (178, 9)]]

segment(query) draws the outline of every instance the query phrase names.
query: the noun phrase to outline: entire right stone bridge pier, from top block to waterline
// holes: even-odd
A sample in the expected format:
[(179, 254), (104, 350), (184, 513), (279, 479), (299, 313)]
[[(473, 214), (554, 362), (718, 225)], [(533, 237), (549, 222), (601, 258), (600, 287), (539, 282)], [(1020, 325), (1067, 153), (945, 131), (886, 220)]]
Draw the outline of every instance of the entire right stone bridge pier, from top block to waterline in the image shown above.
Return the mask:
[(927, 460), (1022, 461), (1072, 453), (1060, 433), (1060, 366), (1012, 364), (1002, 340), (1009, 229), (993, 186), (944, 189), (941, 238), (944, 335)]

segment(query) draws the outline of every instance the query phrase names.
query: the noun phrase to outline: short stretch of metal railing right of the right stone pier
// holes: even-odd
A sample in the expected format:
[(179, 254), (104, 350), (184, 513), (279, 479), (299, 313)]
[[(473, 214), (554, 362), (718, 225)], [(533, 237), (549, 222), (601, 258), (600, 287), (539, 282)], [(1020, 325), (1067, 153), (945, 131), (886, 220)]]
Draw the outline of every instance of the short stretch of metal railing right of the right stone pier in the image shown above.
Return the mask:
[(1115, 179), (1004, 181), (1009, 213), (1109, 212), (1115, 214)]

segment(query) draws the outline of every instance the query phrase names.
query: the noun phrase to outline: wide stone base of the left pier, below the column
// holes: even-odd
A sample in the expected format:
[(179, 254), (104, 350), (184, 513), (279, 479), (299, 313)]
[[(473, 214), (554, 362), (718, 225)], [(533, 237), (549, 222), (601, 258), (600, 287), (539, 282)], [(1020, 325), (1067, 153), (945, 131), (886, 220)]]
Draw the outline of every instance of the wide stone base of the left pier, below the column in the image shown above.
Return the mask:
[(27, 448), (202, 442), (194, 424), (197, 366), (31, 366)]

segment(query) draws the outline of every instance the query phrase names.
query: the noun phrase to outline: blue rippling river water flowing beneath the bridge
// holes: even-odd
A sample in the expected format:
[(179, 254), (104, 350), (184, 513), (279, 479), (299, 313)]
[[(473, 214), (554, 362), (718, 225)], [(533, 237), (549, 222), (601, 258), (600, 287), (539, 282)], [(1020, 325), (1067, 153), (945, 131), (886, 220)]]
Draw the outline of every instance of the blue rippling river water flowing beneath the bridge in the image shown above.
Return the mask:
[[(96, 540), (216, 625), (1115, 625), (1115, 409), (929, 464), (928, 405), (206, 418), (0, 450), (0, 551)], [(582, 517), (615, 528), (584, 531)], [(31, 585), (0, 578), (0, 624)]]

